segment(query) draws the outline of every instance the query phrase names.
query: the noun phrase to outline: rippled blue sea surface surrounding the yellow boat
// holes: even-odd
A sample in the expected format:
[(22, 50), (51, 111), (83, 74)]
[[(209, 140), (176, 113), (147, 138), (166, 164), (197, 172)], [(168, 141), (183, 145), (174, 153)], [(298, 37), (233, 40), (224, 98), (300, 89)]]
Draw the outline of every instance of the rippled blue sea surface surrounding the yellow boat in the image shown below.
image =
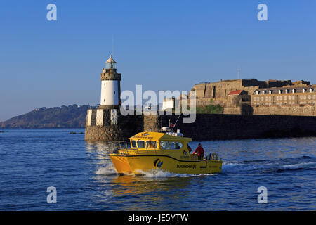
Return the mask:
[(202, 141), (223, 159), (221, 174), (118, 176), (107, 143), (70, 131), (84, 129), (0, 133), (0, 210), (316, 210), (315, 137)]

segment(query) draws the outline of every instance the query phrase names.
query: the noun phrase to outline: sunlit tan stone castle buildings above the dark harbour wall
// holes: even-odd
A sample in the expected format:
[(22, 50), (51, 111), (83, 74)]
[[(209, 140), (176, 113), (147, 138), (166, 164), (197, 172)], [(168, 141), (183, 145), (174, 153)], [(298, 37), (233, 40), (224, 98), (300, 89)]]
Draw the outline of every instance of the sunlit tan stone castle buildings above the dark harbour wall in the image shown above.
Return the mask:
[(195, 84), (197, 106), (220, 105), (224, 114), (316, 115), (316, 86), (308, 81), (257, 79)]

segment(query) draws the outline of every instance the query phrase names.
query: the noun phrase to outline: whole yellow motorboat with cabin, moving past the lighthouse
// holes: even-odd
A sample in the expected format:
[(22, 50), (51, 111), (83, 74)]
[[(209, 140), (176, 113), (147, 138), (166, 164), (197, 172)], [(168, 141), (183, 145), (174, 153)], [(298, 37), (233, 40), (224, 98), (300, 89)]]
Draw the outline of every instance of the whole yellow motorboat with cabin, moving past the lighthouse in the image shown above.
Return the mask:
[(221, 172), (223, 161), (216, 153), (199, 160), (190, 154), (190, 138), (179, 133), (140, 132), (130, 139), (130, 148), (120, 148), (110, 158), (119, 174), (143, 174), (163, 169), (177, 174), (213, 174)]

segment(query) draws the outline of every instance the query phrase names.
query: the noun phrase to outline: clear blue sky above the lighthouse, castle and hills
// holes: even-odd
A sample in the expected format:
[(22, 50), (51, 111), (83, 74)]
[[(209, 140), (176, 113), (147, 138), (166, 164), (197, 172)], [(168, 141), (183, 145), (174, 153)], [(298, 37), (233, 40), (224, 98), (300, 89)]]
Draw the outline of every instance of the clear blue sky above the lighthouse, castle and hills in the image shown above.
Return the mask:
[[(316, 84), (316, 1), (3, 1), (0, 120), (94, 105), (112, 51), (122, 90), (240, 78)], [(57, 21), (46, 6), (57, 6)], [(258, 4), (268, 21), (257, 20)]]

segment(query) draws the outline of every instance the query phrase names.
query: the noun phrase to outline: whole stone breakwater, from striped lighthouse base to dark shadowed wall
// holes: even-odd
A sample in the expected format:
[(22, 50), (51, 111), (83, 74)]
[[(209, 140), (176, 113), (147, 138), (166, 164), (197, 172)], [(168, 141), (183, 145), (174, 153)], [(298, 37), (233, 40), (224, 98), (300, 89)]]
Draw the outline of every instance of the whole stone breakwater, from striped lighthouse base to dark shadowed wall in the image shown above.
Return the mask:
[[(169, 119), (174, 124), (178, 115), (128, 115), (115, 110), (88, 110), (86, 141), (127, 141), (140, 131), (159, 131)], [(316, 136), (316, 117), (288, 115), (224, 115), (197, 114), (193, 123), (183, 123), (176, 129), (193, 141), (216, 139), (257, 139), (267, 137)]]

